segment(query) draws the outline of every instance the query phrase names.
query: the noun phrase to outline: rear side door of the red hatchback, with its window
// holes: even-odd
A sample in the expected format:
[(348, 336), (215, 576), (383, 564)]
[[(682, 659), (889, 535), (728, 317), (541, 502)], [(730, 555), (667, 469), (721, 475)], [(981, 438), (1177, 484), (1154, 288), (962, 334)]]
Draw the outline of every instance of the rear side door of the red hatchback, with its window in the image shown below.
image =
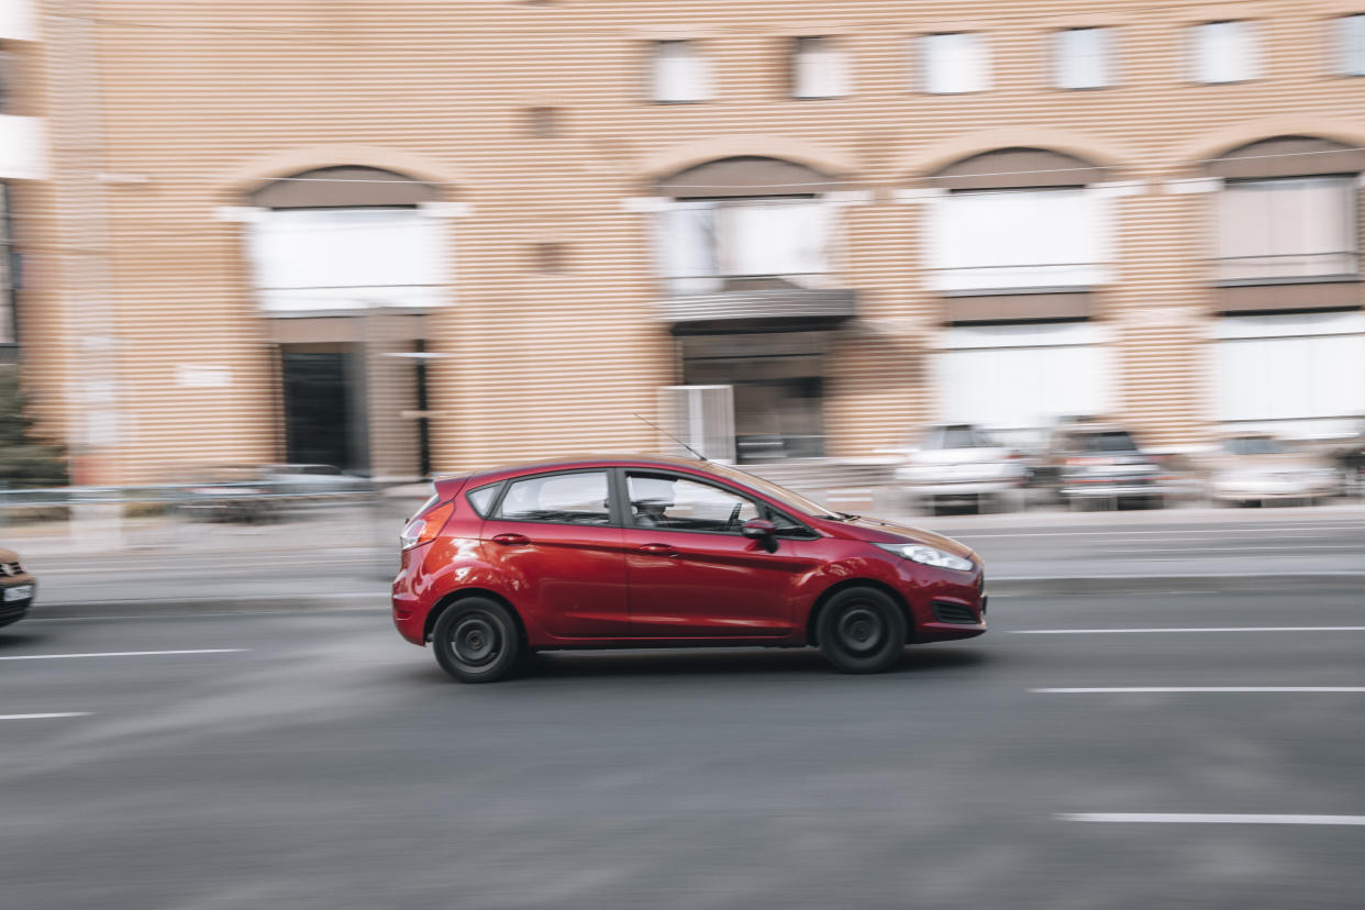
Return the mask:
[(506, 591), (550, 634), (629, 634), (622, 529), (606, 469), (509, 480), (480, 538)]

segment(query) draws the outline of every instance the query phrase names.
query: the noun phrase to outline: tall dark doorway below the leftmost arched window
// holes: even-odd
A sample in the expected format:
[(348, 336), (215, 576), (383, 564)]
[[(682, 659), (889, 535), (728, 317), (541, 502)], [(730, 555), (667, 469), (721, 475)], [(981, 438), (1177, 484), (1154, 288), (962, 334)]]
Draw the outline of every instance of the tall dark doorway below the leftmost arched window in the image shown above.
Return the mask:
[(287, 461), (343, 469), (363, 467), (352, 445), (348, 356), (343, 351), (281, 351)]

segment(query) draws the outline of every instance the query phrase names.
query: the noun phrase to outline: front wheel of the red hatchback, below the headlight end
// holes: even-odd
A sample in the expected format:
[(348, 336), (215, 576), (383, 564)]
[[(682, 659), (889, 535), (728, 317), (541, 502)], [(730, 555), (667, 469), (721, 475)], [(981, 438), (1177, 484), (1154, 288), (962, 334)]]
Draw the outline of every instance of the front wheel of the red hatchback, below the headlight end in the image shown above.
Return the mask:
[(820, 610), (815, 640), (839, 673), (883, 673), (905, 654), (905, 611), (876, 588), (845, 588)]

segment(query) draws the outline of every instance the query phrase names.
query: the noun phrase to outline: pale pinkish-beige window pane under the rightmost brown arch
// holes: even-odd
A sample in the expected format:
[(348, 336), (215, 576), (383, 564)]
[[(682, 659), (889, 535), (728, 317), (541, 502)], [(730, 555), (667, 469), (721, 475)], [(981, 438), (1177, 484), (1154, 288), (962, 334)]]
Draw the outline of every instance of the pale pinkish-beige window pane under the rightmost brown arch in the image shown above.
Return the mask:
[(1351, 177), (1238, 180), (1218, 194), (1219, 281), (1254, 284), (1357, 274)]

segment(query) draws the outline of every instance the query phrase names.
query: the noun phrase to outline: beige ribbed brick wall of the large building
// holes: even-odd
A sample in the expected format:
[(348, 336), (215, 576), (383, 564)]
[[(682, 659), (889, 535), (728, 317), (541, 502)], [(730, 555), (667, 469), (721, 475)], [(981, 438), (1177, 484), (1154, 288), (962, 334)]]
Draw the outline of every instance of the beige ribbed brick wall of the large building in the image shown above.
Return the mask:
[[(46, 3), (45, 25), (68, 5)], [(145, 177), (105, 186), (108, 247), (86, 251), (112, 276), (117, 407), (128, 417), (119, 445), (101, 453), (111, 465), (104, 479), (280, 456), (240, 225), (212, 213), (307, 166), (420, 171), (444, 183), (446, 199), (470, 203), (450, 222), (452, 303), (429, 341), (452, 355), (431, 368), (434, 461), (459, 469), (652, 447), (652, 431), (631, 415), (652, 415), (655, 389), (674, 381), (673, 347), (655, 319), (644, 216), (622, 201), (646, 195), (667, 166), (718, 153), (804, 156), (875, 191), (870, 205), (846, 210), (845, 277), (864, 319), (831, 359), (826, 416), (839, 456), (890, 445), (934, 416), (928, 347), (940, 317), (917, 269), (923, 210), (894, 205), (893, 190), (1010, 145), (1052, 147), (1110, 165), (1115, 179), (1151, 181), (1117, 202), (1119, 281), (1099, 295), (1096, 318), (1114, 337), (1121, 416), (1152, 442), (1193, 441), (1207, 409), (1198, 337), (1208, 293), (1197, 259), (1207, 196), (1163, 195), (1159, 183), (1278, 134), (1365, 145), (1365, 80), (1327, 71), (1324, 19), (1354, 11), (1334, 0), (76, 5), (93, 15), (98, 38), (100, 169)], [(1260, 22), (1263, 78), (1188, 83), (1183, 29), (1223, 18)], [(1047, 35), (1077, 25), (1119, 29), (1115, 87), (1050, 87)], [(916, 93), (906, 41), (957, 29), (988, 34), (992, 89)], [(785, 97), (784, 48), (796, 34), (846, 42), (849, 97)], [(702, 40), (714, 101), (646, 100), (644, 41), (674, 35)], [(48, 46), (49, 56), (63, 50)], [(562, 109), (561, 135), (526, 134), (532, 105)], [(55, 160), (71, 151), (55, 147)], [(52, 248), (74, 236), (41, 201), (29, 217)], [(545, 239), (566, 244), (565, 274), (534, 274), (530, 244)], [(63, 311), (74, 300), (70, 287), (48, 285), (30, 292), (27, 307)], [(75, 368), (79, 353), (59, 318), (40, 325), (46, 344), (30, 372), (56, 398), (59, 364)], [(232, 385), (180, 387), (177, 364), (227, 366)]]

